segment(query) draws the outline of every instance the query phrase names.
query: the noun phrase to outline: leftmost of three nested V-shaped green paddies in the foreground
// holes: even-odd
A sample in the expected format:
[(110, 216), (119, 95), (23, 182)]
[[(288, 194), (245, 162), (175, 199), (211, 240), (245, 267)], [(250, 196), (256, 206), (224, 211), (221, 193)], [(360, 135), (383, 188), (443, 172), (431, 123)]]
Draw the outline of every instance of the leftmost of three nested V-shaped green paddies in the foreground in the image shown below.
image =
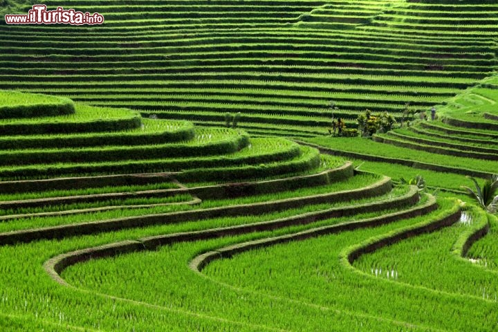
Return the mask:
[[(329, 222), (339, 222), (339, 220)], [(306, 228), (308, 227), (311, 226), (306, 226)], [(301, 314), (299, 314), (299, 317), (295, 317), (295, 313), (293, 315), (285, 314), (288, 313), (288, 309), (284, 310), (284, 308), (288, 307), (290, 309), (292, 307), (295, 307), (297, 304), (294, 302), (288, 302), (286, 301), (286, 299), (270, 299), (265, 295), (252, 295), (246, 291), (234, 292), (232, 289), (225, 287), (220, 288), (219, 284), (210, 282), (205, 283), (203, 278), (199, 278), (197, 275), (189, 271), (187, 266), (185, 266), (185, 262), (188, 261), (192, 257), (192, 255), (196, 255), (196, 253), (203, 252), (205, 250), (210, 250), (210, 248), (216, 248), (218, 246), (237, 243), (244, 240), (247, 241), (248, 239), (257, 239), (261, 237), (268, 237), (270, 235), (286, 234), (287, 232), (302, 230), (304, 228), (304, 226), (301, 226), (279, 230), (272, 233), (259, 232), (241, 237), (228, 237), (226, 239), (217, 239), (212, 241), (178, 243), (172, 247), (164, 247), (163, 250), (160, 250), (159, 252), (146, 253), (145, 256), (138, 253), (132, 255), (124, 255), (118, 258), (118, 261), (112, 259), (113, 261), (115, 261), (115, 263), (113, 263), (113, 266), (116, 268), (116, 270), (114, 268), (111, 268), (111, 270), (100, 268), (102, 264), (105, 264), (107, 260), (95, 260), (91, 263), (91, 265), (83, 264), (81, 266), (74, 266), (73, 268), (70, 268), (66, 271), (66, 273), (64, 273), (64, 277), (68, 279), (69, 282), (75, 283), (78, 286), (83, 286), (84, 288), (88, 289), (93, 286), (93, 279), (91, 278), (91, 275), (93, 275), (93, 271), (98, 270), (98, 272), (95, 272), (99, 276), (98, 279), (100, 279), (100, 284), (98, 286), (95, 286), (98, 287), (98, 290), (100, 292), (107, 293), (107, 285), (114, 285), (114, 281), (120, 279), (120, 276), (115, 274), (115, 272), (121, 270), (120, 268), (117, 268), (117, 266), (121, 266), (120, 261), (123, 261), (123, 264), (129, 266), (131, 261), (136, 261), (137, 259), (140, 260), (139, 257), (141, 257), (142, 263), (145, 263), (145, 261), (148, 261), (148, 259), (151, 258), (156, 262), (160, 261), (161, 264), (158, 265), (163, 266), (163, 268), (167, 268), (169, 270), (169, 273), (164, 276), (164, 278), (167, 279), (163, 279), (163, 282), (160, 283), (163, 286), (157, 288), (161, 289), (162, 291), (158, 292), (158, 295), (155, 297), (155, 299), (151, 299), (148, 295), (146, 295), (145, 292), (142, 292), (142, 295), (136, 293), (136, 284), (133, 284), (131, 280), (138, 279), (133, 277), (135, 272), (132, 270), (128, 270), (128, 273), (131, 273), (131, 279), (129, 279), (131, 282), (131, 284), (129, 284), (130, 288), (128, 288), (129, 291), (123, 292), (122, 288), (112, 286), (113, 292), (111, 294), (118, 295), (118, 297), (131, 297), (135, 300), (151, 302), (159, 306), (167, 304), (171, 305), (172, 308), (179, 308), (181, 310), (194, 311), (196, 313), (204, 313), (207, 315), (216, 315), (216, 317), (223, 317), (224, 319), (228, 320), (235, 320), (235, 317), (238, 317), (237, 321), (239, 321), (241, 324), (247, 324), (248, 322), (250, 322), (248, 318), (244, 318), (243, 315), (241, 315), (241, 311), (246, 311), (246, 308), (250, 307), (254, 307), (251, 309), (252, 312), (259, 311), (259, 308), (265, 308), (264, 311), (266, 311), (267, 314), (263, 314), (263, 311), (261, 311), (261, 315), (259, 315), (259, 317), (263, 319), (263, 321), (260, 320), (257, 323), (258, 326), (260, 326), (259, 329), (263, 329), (264, 327), (262, 326), (266, 324), (269, 324), (268, 327), (277, 326), (281, 328), (290, 328), (289, 324), (293, 324), (293, 326), (299, 326), (299, 329), (313, 330), (317, 328), (318, 324), (324, 324), (325, 322), (329, 322), (329, 320), (335, 321), (337, 319), (337, 316), (331, 312), (327, 312), (326, 315), (321, 312), (320, 315), (318, 315), (319, 317), (316, 317), (316, 319), (318, 320), (316, 321), (315, 314), (312, 313), (317, 313), (320, 311), (320, 309), (313, 308), (313, 306), (306, 306), (306, 304), (304, 304), (299, 305), (299, 311), (301, 311), (301, 313), (304, 315), (303, 317), (313, 317), (313, 320), (303, 320), (303, 317), (300, 317)], [(129, 259), (131, 259), (131, 261), (129, 261)], [(165, 264), (165, 260), (169, 261), (169, 264)], [(135, 266), (140, 269), (140, 265)], [(93, 268), (93, 266), (95, 266), (95, 268)], [(107, 264), (107, 266), (109, 266), (109, 264)], [(89, 273), (85, 273), (81, 270), (87, 270), (87, 268), (89, 269)], [(162, 275), (163, 273), (161, 273), (160, 271), (163, 268), (160, 268), (160, 270), (156, 271), (158, 271), (158, 273)], [(149, 274), (146, 277), (147, 281), (149, 280), (149, 276), (153, 277), (154, 274), (155, 273)], [(88, 277), (84, 277), (84, 275), (87, 275)], [(116, 275), (116, 277), (111, 277), (111, 275)], [(183, 275), (185, 277), (179, 277), (180, 275)], [(169, 279), (169, 277), (171, 277), (172, 279)], [(79, 279), (80, 282), (77, 282), (76, 279)], [(183, 280), (183, 282), (181, 280)], [(155, 283), (151, 284), (147, 282), (147, 284), (151, 287), (156, 286)], [(168, 286), (172, 284), (175, 285), (174, 288), (170, 288)], [(190, 286), (186, 286), (187, 284), (189, 284)], [(186, 287), (183, 285), (185, 285)], [(195, 287), (192, 287), (192, 285), (195, 285)], [(169, 289), (169, 291), (166, 291), (166, 289)], [(175, 290), (178, 290), (179, 292)], [(213, 301), (209, 302), (209, 306), (206, 306), (205, 300), (207, 298), (210, 298), (207, 297), (207, 295), (212, 293), (216, 293), (218, 295), (213, 299)], [(240, 296), (244, 297), (244, 302), (240, 302), (240, 299), (237, 300), (237, 298), (239, 298)], [(258, 301), (259, 304), (256, 304), (256, 302), (254, 301)], [(238, 302), (239, 304), (237, 306), (234, 306), (236, 302)], [(268, 303), (268, 305), (263, 306), (262, 304), (264, 303)], [(224, 309), (221, 310), (221, 308)], [(270, 310), (270, 315), (268, 315), (268, 310)], [(278, 313), (279, 311), (281, 313)], [(348, 315), (347, 318), (343, 319), (345, 319), (346, 322), (350, 322), (351, 318), (352, 317)]]

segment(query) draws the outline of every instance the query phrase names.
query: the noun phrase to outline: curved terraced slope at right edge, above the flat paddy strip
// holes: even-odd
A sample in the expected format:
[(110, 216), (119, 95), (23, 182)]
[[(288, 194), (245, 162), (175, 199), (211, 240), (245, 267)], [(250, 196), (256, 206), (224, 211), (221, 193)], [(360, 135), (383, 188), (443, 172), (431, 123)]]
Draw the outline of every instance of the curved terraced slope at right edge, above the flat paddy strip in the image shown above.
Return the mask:
[(374, 140), (448, 156), (498, 160), (497, 100), (495, 89), (468, 89), (440, 110), (442, 122), (419, 122)]

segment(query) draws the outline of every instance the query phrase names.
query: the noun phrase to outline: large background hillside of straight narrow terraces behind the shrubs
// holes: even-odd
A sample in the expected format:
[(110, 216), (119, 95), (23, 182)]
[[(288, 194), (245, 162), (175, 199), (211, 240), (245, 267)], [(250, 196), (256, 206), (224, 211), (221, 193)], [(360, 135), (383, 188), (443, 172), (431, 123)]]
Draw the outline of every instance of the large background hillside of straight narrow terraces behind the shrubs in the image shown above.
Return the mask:
[[(430, 2), (430, 3), (427, 3)], [(27, 12), (31, 3), (9, 12)], [(496, 64), (479, 1), (49, 1), (102, 26), (0, 26), (0, 89), (259, 134), (326, 133), (360, 111), (428, 109)]]

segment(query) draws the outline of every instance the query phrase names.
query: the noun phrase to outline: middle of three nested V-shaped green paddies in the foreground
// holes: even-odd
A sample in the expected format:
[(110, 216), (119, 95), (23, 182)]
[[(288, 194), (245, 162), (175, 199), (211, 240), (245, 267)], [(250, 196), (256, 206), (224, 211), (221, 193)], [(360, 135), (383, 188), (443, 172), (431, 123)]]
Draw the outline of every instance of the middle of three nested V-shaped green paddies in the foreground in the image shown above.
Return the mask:
[[(434, 212), (430, 218), (424, 216), (414, 219), (410, 225), (423, 223), (438, 214), (441, 215), (441, 211)], [(402, 222), (396, 226), (400, 228), (406, 225), (409, 224)], [(295, 305), (304, 302), (440, 329), (465, 329), (467, 324), (468, 328), (472, 325), (487, 324), (486, 320), (470, 317), (485, 317), (486, 314), (479, 313), (476, 308), (486, 311), (492, 307), (489, 302), (459, 294), (410, 287), (387, 278), (371, 277), (370, 268), (370, 275), (367, 276), (352, 268), (345, 268), (343, 261), (338, 259), (344, 255), (345, 248), (354, 246), (362, 239), (386, 234), (393, 230), (392, 226), (344, 232), (251, 250), (232, 259), (214, 261), (203, 271), (219, 282), (219, 285), (228, 284), (243, 289), (248, 294), (283, 297), (294, 300)], [(441, 252), (441, 255), (445, 255), (445, 252)], [(450, 259), (454, 258), (450, 255)], [(436, 268), (436, 271), (439, 271), (439, 268)], [(443, 298), (448, 299), (448, 302), (445, 302), (444, 306), (438, 305)], [(423, 303), (422, 306), (432, 302), (434, 305), (431, 305), (431, 311), (414, 315), (414, 311), (423, 311), (421, 307), (412, 306), (418, 302)], [(458, 314), (454, 313), (452, 306), (459, 308)], [(465, 316), (469, 319), (463, 318)]]

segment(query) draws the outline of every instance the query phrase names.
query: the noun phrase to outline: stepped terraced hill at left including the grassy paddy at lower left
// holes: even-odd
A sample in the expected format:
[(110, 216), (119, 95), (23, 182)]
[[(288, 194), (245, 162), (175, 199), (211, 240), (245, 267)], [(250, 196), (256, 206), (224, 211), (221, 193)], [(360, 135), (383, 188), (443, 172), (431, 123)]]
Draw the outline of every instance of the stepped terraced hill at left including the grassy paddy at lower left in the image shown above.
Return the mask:
[[(67, 288), (60, 274), (77, 261), (119, 252), (257, 239), (320, 225), (356, 228), (349, 217), (374, 225), (436, 208), (428, 196), (418, 203), (415, 187), (393, 190), (385, 176), (354, 174), (351, 163), (282, 138), (250, 140), (234, 129), (194, 129), (190, 122), (142, 119), (127, 109), (44, 95), (7, 92), (1, 100), (7, 111), (0, 113), (0, 250), (10, 257), (1, 260), (2, 329), (255, 327), (182, 304), (140, 304)], [(57, 103), (72, 112), (50, 108)], [(32, 117), (26, 109), (54, 111)], [(379, 212), (396, 213), (372, 219)], [(178, 276), (195, 276), (183, 268)], [(100, 305), (114, 309), (101, 315), (94, 311)], [(130, 315), (144, 320), (133, 322)]]

